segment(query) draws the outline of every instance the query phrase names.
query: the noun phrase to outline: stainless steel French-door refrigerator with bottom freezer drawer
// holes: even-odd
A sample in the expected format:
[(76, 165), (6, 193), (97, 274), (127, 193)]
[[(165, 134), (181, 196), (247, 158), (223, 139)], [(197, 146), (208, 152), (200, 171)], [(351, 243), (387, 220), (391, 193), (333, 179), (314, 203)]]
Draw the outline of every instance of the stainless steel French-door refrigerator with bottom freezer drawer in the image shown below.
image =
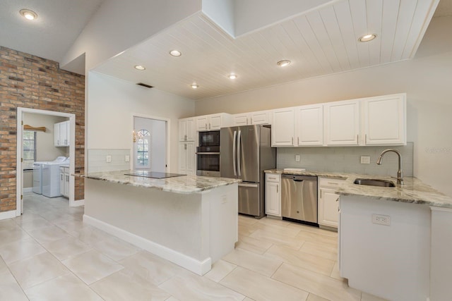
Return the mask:
[(276, 167), (269, 125), (244, 125), (220, 129), (220, 176), (239, 178), (239, 213), (265, 216), (266, 169)]

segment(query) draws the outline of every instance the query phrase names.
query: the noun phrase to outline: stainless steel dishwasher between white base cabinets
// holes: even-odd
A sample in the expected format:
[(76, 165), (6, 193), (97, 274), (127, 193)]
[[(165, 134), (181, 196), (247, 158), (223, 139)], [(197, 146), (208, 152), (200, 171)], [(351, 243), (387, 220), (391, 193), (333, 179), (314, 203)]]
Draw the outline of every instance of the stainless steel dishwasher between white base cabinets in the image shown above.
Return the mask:
[(316, 176), (281, 176), (281, 215), (283, 218), (317, 224)]

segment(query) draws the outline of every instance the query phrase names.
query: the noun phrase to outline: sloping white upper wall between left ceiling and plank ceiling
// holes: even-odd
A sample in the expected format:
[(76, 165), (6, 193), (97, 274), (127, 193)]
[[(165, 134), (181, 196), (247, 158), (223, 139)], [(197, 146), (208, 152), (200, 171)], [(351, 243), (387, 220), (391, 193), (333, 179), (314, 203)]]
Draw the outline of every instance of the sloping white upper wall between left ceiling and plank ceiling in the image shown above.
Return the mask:
[[(201, 11), (201, 0), (103, 1), (60, 63), (74, 72), (71, 61), (86, 54), (86, 69), (143, 42), (157, 32)], [(69, 68), (68, 68), (69, 69)]]

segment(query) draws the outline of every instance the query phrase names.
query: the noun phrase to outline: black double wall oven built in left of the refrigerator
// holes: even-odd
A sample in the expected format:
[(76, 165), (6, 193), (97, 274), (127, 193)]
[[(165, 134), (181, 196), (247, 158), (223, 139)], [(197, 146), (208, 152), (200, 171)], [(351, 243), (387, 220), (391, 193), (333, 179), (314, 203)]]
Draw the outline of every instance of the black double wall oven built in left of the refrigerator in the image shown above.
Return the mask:
[(220, 131), (199, 132), (196, 147), (196, 175), (220, 176)]

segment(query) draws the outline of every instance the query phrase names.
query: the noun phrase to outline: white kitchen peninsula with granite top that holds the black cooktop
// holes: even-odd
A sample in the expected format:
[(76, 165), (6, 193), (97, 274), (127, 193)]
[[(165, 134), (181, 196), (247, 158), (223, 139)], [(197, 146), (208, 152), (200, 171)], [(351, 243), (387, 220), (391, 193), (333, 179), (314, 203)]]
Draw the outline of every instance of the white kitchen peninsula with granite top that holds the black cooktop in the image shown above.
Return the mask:
[(83, 222), (196, 274), (234, 249), (238, 183), (229, 178), (146, 178), (87, 173)]

